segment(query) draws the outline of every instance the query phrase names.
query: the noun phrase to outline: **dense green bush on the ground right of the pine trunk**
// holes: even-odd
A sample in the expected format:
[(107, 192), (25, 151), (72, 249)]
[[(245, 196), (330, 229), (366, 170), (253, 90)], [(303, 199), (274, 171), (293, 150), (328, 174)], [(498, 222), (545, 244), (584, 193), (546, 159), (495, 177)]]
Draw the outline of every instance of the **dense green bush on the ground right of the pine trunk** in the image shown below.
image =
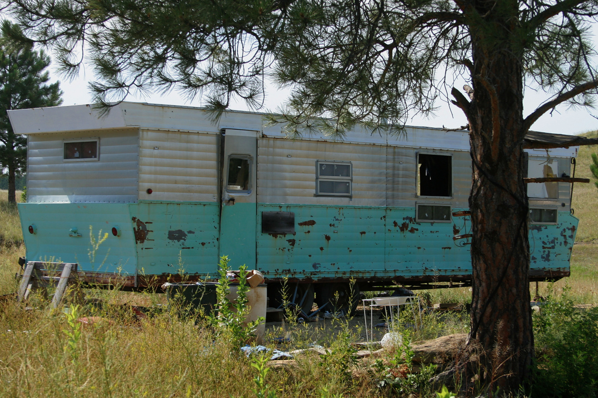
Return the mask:
[(598, 395), (598, 308), (575, 308), (568, 291), (548, 297), (535, 315), (537, 396)]

